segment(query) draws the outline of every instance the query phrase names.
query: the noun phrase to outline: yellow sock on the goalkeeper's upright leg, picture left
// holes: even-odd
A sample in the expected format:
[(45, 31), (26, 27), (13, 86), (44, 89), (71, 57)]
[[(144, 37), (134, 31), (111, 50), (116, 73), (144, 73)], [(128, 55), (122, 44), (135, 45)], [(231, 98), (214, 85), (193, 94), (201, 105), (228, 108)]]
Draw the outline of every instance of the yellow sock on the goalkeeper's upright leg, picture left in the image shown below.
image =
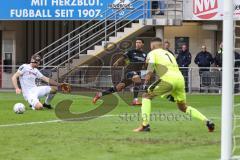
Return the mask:
[(142, 119), (143, 125), (146, 126), (149, 124), (150, 121), (150, 114), (151, 114), (151, 100), (147, 98), (142, 99)]

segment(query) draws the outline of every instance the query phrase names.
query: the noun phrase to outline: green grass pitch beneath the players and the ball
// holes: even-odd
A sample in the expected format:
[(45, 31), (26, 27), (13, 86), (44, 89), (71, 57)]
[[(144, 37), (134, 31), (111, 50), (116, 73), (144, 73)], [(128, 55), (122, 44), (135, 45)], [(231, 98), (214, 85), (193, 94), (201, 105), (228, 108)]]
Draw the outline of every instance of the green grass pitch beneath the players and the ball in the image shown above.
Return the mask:
[[(192, 119), (155, 119), (150, 133), (134, 133), (138, 118), (129, 116), (140, 112), (122, 100), (103, 116), (89, 121), (57, 120), (54, 110), (33, 111), (22, 96), (0, 93), (0, 159), (4, 160), (214, 160), (220, 157), (221, 97), (188, 95), (188, 103), (216, 123), (209, 133), (205, 124)], [(86, 112), (96, 108), (91, 97), (58, 94), (53, 105), (72, 99), (71, 111)], [(27, 111), (18, 115), (12, 111), (17, 102)], [(235, 97), (240, 103), (240, 97)], [(182, 115), (174, 103), (156, 98), (152, 111), (165, 115)], [(126, 117), (126, 114), (128, 117)], [(31, 122), (43, 122), (32, 123)], [(14, 125), (12, 125), (14, 124)], [(15, 125), (16, 124), (16, 125)], [(20, 124), (20, 125), (17, 125)], [(27, 124), (27, 125), (21, 125)], [(9, 126), (7, 126), (9, 125)]]

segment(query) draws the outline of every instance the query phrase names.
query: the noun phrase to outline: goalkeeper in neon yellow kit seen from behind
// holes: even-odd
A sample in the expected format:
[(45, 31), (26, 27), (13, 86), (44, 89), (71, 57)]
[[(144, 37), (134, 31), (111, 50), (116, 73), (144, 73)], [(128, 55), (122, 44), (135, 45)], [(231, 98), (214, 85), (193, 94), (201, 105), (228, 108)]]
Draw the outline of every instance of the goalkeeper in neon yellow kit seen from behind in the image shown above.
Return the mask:
[(150, 131), (151, 100), (155, 96), (171, 95), (178, 108), (186, 114), (204, 122), (209, 132), (214, 131), (214, 123), (206, 118), (197, 109), (186, 104), (185, 82), (183, 75), (179, 71), (175, 57), (166, 50), (162, 49), (162, 40), (154, 38), (151, 40), (151, 52), (147, 56), (147, 75), (145, 76), (146, 86), (153, 72), (159, 77), (147, 88), (147, 93), (143, 94), (142, 99), (142, 124), (134, 129), (135, 132)]

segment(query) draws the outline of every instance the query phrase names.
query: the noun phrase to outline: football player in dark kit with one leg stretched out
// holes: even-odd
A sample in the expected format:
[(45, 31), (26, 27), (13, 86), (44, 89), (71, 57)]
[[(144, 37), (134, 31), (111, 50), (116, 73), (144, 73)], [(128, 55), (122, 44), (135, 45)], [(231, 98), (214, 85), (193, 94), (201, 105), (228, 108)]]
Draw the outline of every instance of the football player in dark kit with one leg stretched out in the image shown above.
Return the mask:
[(138, 101), (138, 93), (141, 85), (141, 77), (140, 72), (145, 66), (147, 54), (143, 52), (144, 41), (142, 39), (136, 40), (136, 48), (131, 49), (123, 54), (114, 64), (113, 66), (119, 66), (122, 62), (126, 62), (127, 64), (124, 78), (114, 87), (110, 87), (105, 91), (98, 92), (96, 96), (93, 98), (93, 103), (95, 104), (98, 99), (102, 96), (112, 94), (114, 92), (120, 92), (125, 87), (133, 84), (133, 93), (134, 99), (132, 101), (132, 105), (141, 105)]

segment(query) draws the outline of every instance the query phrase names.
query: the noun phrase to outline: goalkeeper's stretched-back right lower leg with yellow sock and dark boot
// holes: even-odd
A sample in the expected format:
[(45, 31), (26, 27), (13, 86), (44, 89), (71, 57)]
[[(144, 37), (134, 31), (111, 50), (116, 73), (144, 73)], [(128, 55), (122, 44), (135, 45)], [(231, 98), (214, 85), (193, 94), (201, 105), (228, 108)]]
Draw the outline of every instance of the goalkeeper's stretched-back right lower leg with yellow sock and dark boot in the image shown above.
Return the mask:
[(208, 127), (209, 132), (214, 131), (215, 124), (211, 120), (209, 120), (206, 116), (204, 116), (201, 112), (199, 112), (197, 109), (191, 106), (187, 106), (185, 102), (177, 102), (177, 106), (182, 112), (185, 112), (191, 117), (199, 119), (200, 121), (204, 122)]

